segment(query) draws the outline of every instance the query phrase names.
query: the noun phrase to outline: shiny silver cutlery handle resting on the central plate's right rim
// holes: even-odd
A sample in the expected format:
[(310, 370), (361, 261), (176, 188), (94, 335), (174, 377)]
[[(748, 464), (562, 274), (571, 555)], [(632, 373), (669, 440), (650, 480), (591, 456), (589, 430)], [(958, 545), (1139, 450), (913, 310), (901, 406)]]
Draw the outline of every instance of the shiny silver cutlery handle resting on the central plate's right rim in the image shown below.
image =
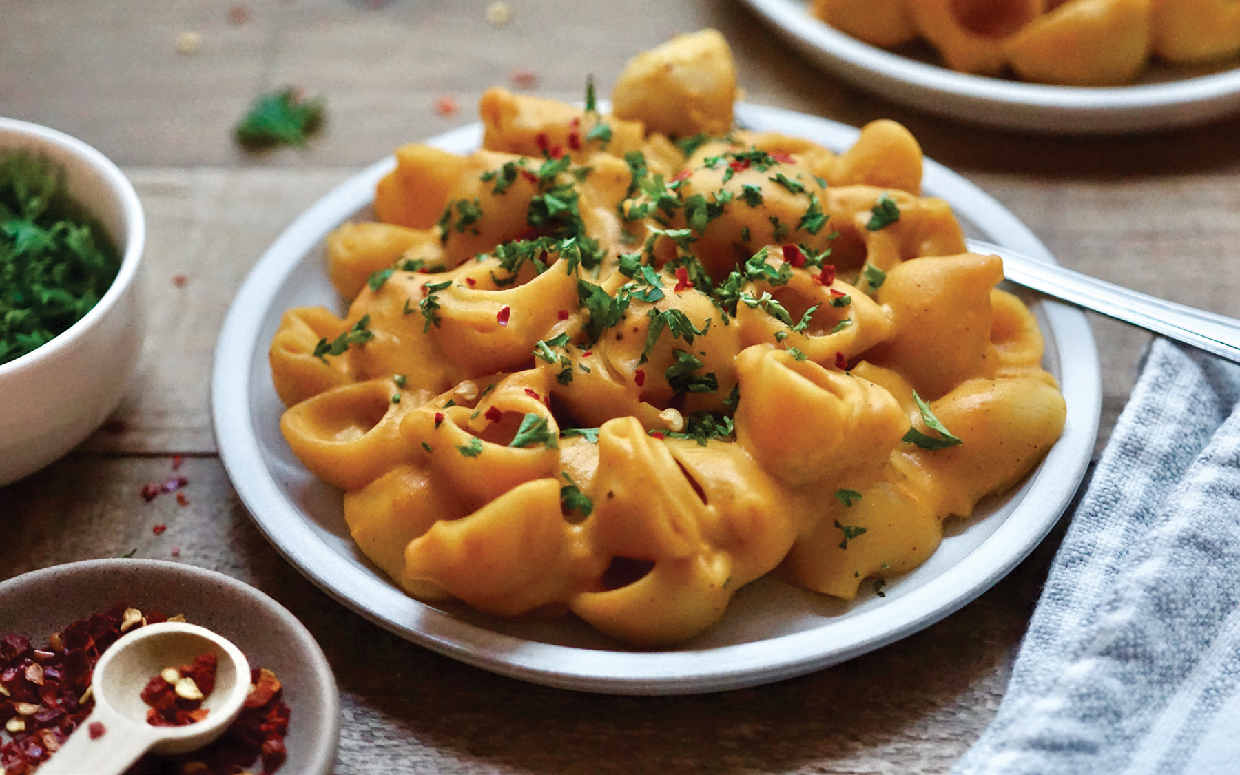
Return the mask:
[(1240, 320), (1167, 301), (1058, 264), (1033, 260), (987, 242), (968, 242), (972, 250), (1002, 258), (1003, 277), (1018, 285), (1240, 363)]

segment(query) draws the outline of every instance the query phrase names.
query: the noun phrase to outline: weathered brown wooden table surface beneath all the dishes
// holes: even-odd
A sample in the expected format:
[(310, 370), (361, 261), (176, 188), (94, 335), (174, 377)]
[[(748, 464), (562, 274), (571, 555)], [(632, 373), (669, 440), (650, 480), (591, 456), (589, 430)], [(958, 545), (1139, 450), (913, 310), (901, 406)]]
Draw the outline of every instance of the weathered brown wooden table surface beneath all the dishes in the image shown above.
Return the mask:
[[(474, 120), (482, 89), (527, 69), (531, 93), (605, 93), (676, 32), (727, 35), (748, 100), (861, 125), (905, 123), (926, 154), (998, 197), (1069, 267), (1240, 314), (1240, 119), (1126, 138), (955, 124), (854, 91), (789, 51), (734, 0), (0, 0), (0, 115), (100, 149), (146, 208), (140, 373), (107, 430), (0, 489), (0, 579), (115, 557), (246, 580), (288, 606), (336, 671), (339, 773), (944, 773), (994, 714), (1058, 538), (925, 631), (838, 667), (698, 697), (600, 697), (501, 678), (405, 642), (306, 582), (265, 542), (217, 456), (208, 376), (250, 267), (306, 206), (407, 141)], [(241, 7), (238, 12), (233, 10)], [(179, 53), (182, 32), (201, 35)], [(260, 92), (327, 100), (305, 150), (247, 155), (231, 128)], [(435, 103), (460, 104), (440, 115)], [(184, 285), (174, 277), (185, 275)], [(1104, 438), (1147, 337), (1092, 319)], [(0, 397), (2, 399), (2, 397)], [(174, 455), (188, 506), (145, 502)], [(167, 531), (153, 533), (155, 525)], [(294, 719), (296, 723), (296, 719)]]

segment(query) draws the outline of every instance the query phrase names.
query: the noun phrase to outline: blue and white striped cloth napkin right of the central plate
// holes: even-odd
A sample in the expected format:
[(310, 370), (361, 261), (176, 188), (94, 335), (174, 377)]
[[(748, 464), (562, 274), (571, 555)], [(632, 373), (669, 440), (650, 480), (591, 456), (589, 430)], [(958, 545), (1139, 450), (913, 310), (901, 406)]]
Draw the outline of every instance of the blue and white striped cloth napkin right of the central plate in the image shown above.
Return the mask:
[(952, 775), (1240, 774), (1240, 367), (1156, 340)]

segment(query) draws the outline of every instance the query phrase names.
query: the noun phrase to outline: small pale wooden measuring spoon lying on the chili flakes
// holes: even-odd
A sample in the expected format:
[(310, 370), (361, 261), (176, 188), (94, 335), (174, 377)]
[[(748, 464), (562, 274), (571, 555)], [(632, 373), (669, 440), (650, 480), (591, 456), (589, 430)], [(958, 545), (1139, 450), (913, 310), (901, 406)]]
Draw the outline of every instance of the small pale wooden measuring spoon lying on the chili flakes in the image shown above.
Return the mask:
[[(165, 667), (188, 665), (215, 653), (216, 687), (202, 702), (210, 708), (201, 722), (185, 727), (153, 727), (141, 691)], [(119, 775), (146, 751), (184, 754), (224, 733), (249, 694), (249, 662), (226, 637), (185, 622), (138, 629), (108, 649), (91, 681), (94, 711), (38, 768), (40, 775)], [(102, 724), (102, 727), (100, 727)]]

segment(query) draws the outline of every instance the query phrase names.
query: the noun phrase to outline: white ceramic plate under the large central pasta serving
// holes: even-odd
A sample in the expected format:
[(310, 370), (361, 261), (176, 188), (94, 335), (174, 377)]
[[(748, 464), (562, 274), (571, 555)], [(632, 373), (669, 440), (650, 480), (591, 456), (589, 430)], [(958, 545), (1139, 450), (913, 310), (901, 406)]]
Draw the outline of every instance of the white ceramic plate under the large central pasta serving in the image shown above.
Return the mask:
[[(755, 105), (738, 105), (737, 120), (833, 149), (858, 135), (835, 122)], [(465, 154), (481, 135), (475, 124), (430, 144)], [(849, 605), (760, 579), (738, 593), (717, 626), (668, 651), (627, 649), (572, 618), (511, 621), (419, 603), (357, 551), (341, 492), (311, 475), (284, 443), (284, 407), (267, 363), (285, 309), (345, 309), (327, 280), (324, 237), (347, 218), (373, 217), (374, 184), (394, 164), (384, 159), (325, 196), (254, 267), (219, 334), (212, 410), (228, 475), (267, 537), (330, 595), (414, 642), (506, 676), (608, 693), (708, 692), (797, 676), (915, 632), (980, 595), (1042, 541), (1085, 472), (1101, 408), (1094, 336), (1080, 311), (1029, 299), (1045, 332), (1047, 368), (1068, 401), (1064, 435), (1019, 490), (983, 502), (976, 517), (952, 527), (929, 562), (888, 584), (885, 598), (867, 588)], [(925, 190), (951, 202), (971, 236), (1053, 260), (1011, 212), (959, 175), (928, 161)]]

